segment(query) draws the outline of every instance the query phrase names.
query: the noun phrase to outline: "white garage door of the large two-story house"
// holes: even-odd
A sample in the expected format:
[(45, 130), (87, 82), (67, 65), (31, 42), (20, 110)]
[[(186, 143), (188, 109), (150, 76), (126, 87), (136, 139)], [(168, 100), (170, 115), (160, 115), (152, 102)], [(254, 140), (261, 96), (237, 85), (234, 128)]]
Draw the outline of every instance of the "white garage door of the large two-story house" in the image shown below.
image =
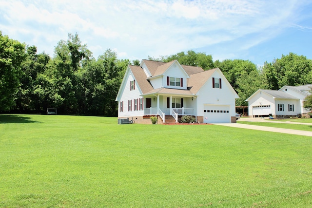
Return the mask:
[(230, 106), (204, 105), (204, 123), (231, 123)]

